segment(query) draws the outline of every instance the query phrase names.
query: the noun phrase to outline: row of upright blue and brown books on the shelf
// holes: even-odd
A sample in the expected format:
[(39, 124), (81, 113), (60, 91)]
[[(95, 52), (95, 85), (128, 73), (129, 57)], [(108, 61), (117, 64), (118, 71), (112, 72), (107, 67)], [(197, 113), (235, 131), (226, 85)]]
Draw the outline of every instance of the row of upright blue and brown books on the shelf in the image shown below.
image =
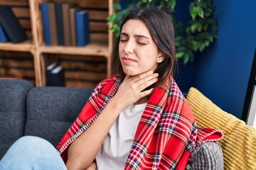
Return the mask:
[(75, 4), (41, 4), (46, 45), (85, 46), (90, 42), (89, 12)]

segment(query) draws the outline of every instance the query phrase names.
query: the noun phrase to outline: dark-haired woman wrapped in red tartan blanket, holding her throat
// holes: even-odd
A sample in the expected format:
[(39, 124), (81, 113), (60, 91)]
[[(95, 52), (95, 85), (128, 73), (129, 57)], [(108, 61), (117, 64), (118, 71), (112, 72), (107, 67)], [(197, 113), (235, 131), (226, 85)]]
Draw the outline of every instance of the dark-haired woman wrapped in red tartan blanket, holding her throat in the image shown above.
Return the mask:
[(169, 16), (131, 11), (121, 26), (118, 74), (98, 84), (57, 147), (65, 165), (58, 156), (43, 162), (58, 169), (185, 169), (197, 130), (172, 78), (174, 64)]

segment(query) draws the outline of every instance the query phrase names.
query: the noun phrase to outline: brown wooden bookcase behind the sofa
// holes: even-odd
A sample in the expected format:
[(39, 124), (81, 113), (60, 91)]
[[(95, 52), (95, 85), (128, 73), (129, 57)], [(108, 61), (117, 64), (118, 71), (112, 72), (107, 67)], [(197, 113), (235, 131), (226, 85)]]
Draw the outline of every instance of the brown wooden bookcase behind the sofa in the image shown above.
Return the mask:
[[(90, 11), (90, 44), (85, 47), (45, 45), (41, 16), (41, 3), (43, 2), (77, 4), (79, 8), (88, 9)], [(113, 34), (108, 32), (111, 25), (107, 25), (107, 16), (113, 12), (113, 3), (113, 0), (0, 0), (1, 5), (12, 6), (15, 16), (19, 18), (21, 27), (28, 36), (28, 40), (23, 42), (0, 42), (0, 53), (1, 55), (6, 54), (8, 61), (12, 60), (11, 56), (13, 55), (19, 56), (19, 54), (15, 55), (16, 53), (30, 53), (28, 55), (32, 56), (31, 61), (25, 60), (24, 62), (33, 68), (31, 69), (33, 79), (28, 78), (36, 86), (46, 85), (46, 66), (48, 64), (64, 61), (62, 64), (67, 70), (68, 86), (94, 87), (98, 81), (111, 74)], [(63, 60), (67, 56), (71, 60)], [(0, 59), (0, 67), (4, 60), (7, 59)], [(67, 63), (68, 66), (65, 65)], [(11, 64), (24, 66), (23, 62), (15, 61)], [(10, 66), (10, 64), (5, 65)], [(73, 69), (69, 69), (70, 67)], [(100, 72), (95, 71), (95, 69), (100, 69)], [(20, 70), (14, 71), (14, 76), (19, 78)], [(27, 74), (27, 72), (23, 73)], [(4, 72), (4, 74), (1, 72), (0, 75), (10, 77), (9, 71)], [(89, 77), (90, 79), (71, 79), (70, 77)]]

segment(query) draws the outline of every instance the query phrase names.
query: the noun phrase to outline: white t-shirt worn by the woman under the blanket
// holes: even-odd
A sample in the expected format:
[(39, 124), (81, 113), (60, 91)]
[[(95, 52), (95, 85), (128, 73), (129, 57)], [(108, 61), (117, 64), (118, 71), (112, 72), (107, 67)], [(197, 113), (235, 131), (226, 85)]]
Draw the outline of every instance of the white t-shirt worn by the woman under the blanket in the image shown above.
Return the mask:
[(124, 108), (96, 155), (98, 170), (124, 169), (146, 103)]

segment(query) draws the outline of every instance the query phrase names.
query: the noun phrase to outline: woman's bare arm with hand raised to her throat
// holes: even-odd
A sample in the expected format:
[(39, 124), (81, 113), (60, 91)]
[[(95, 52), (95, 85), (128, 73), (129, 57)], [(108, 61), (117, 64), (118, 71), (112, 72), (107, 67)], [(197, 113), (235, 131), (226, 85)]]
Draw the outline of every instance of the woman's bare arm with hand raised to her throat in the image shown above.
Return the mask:
[(158, 74), (146, 72), (135, 77), (127, 76), (119, 86), (117, 93), (109, 101), (97, 119), (68, 147), (68, 169), (87, 169), (96, 157), (107, 133), (119, 113), (151, 93), (153, 89), (143, 91), (157, 81)]

